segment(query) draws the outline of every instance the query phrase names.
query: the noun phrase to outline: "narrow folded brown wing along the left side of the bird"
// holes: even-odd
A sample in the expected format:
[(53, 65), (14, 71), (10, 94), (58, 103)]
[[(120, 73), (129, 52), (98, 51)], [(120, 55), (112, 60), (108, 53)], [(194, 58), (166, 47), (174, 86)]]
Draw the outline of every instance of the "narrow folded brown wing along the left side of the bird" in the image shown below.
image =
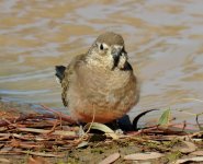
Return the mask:
[(76, 56), (71, 62), (66, 67), (66, 70), (64, 72), (64, 78), (61, 80), (61, 99), (64, 103), (64, 106), (68, 106), (68, 99), (67, 99), (67, 92), (69, 87), (69, 83), (71, 81), (71, 75), (75, 73), (76, 67), (80, 67), (80, 62), (84, 62), (86, 54)]

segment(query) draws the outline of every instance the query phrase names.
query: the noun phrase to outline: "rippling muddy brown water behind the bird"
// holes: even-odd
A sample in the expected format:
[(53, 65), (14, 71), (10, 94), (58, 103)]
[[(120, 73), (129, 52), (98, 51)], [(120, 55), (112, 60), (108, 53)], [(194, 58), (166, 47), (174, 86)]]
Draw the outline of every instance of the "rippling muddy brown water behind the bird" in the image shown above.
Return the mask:
[(202, 103), (187, 99), (203, 99), (201, 0), (1, 0), (0, 96), (61, 107), (54, 66), (87, 51), (105, 31), (123, 35), (142, 80), (132, 115), (168, 107), (202, 112)]

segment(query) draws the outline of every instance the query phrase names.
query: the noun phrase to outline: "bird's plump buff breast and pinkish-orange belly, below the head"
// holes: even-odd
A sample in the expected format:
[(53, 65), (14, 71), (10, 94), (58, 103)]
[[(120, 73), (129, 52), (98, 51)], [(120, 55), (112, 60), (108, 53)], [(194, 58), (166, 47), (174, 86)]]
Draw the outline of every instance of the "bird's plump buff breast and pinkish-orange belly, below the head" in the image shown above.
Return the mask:
[(82, 69), (71, 79), (69, 109), (80, 121), (108, 122), (122, 117), (136, 103), (132, 72)]

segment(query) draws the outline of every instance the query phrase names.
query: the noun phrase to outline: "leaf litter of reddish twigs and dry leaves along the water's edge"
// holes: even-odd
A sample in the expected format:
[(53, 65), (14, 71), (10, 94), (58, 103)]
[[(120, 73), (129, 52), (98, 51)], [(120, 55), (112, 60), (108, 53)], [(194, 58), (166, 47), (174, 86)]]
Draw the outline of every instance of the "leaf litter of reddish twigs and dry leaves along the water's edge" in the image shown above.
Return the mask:
[(117, 133), (116, 129), (92, 120), (83, 127), (82, 134), (69, 116), (44, 105), (41, 109), (45, 113), (0, 110), (0, 162), (13, 163), (11, 155), (20, 155), (24, 163), (203, 162), (202, 125), (199, 120), (192, 125), (200, 128), (196, 130), (185, 122), (174, 124), (170, 109), (155, 126), (137, 129), (142, 116), (157, 110), (150, 109), (134, 119), (132, 131), (122, 129), (123, 133)]

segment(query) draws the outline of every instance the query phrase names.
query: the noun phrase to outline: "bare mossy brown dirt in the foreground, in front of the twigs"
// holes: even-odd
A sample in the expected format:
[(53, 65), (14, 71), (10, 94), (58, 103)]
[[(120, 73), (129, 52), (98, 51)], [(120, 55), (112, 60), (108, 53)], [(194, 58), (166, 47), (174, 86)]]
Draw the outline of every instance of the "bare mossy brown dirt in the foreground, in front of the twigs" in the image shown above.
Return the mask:
[[(139, 138), (140, 139), (140, 138)], [(138, 139), (138, 140), (139, 140)], [(160, 142), (160, 143), (149, 143), (140, 142), (137, 139), (131, 140), (119, 140), (113, 142), (94, 142), (90, 143), (88, 147), (71, 150), (64, 150), (63, 157), (45, 157), (40, 155), (21, 154), (21, 155), (1, 155), (1, 159), (7, 159), (8, 163), (53, 163), (53, 164), (98, 164), (102, 162), (105, 157), (111, 154), (119, 153), (121, 156), (115, 160), (114, 164), (132, 164), (132, 163), (149, 163), (149, 164), (167, 164), (176, 162), (178, 159), (195, 157), (199, 155), (190, 153), (182, 153), (181, 150), (185, 149), (184, 144), (179, 141)], [(195, 152), (203, 152), (203, 142), (196, 144), (198, 149)], [(154, 160), (124, 160), (127, 154), (146, 152), (159, 152), (163, 154), (162, 157), (157, 157)], [(1, 160), (0, 159), (0, 160)], [(199, 162), (201, 163), (201, 162)]]

